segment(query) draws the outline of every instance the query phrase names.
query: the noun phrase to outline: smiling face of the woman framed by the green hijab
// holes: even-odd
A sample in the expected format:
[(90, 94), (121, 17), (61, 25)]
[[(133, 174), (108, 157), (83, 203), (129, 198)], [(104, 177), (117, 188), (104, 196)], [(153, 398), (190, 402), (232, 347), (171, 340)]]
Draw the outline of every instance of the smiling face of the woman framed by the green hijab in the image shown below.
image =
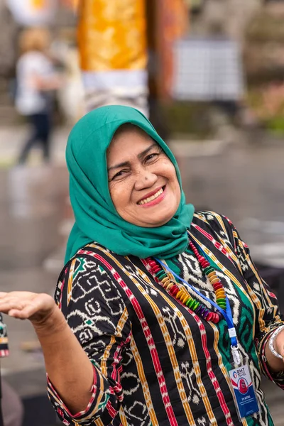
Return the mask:
[(107, 151), (109, 192), (116, 212), (137, 226), (166, 224), (180, 204), (175, 167), (141, 129), (118, 133)]

